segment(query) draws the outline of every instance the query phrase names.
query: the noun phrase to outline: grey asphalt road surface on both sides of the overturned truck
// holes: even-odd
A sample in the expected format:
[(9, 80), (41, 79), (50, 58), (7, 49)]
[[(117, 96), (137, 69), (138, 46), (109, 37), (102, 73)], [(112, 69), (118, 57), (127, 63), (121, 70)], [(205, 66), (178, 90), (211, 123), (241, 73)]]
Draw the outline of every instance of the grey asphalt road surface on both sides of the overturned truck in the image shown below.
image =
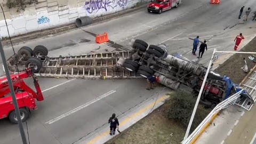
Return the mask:
[[(201, 40), (209, 41), (209, 50), (199, 60), (199, 63), (207, 65), (214, 48), (233, 50), (233, 40), (237, 34), (242, 32), (245, 36), (241, 47), (254, 37), (255, 22), (249, 20), (237, 25), (241, 22), (237, 17), (242, 5), (247, 7), (255, 4), (253, 0), (235, 3), (228, 0), (220, 5), (211, 5), (206, 0), (183, 0), (178, 9), (161, 15), (148, 13), (145, 7), (119, 18), (94, 23), (61, 35), (49, 35), (20, 43), (14, 49), (17, 51), (25, 45), (44, 45), (49, 49), (50, 56), (104, 52), (105, 49), (122, 51), (131, 49), (129, 42), (132, 38), (139, 38), (149, 44), (165, 43), (170, 53), (180, 52), (191, 60), (197, 60), (191, 55), (192, 41), (188, 38), (199, 35)], [(111, 41), (121, 46), (95, 44), (93, 34), (105, 31)], [(13, 54), (11, 47), (5, 47), (5, 53), (7, 58), (10, 57)], [(227, 59), (227, 56), (228, 54), (220, 56), (216, 66)], [(28, 120), (31, 143), (72, 143), (105, 124), (113, 112), (121, 114), (140, 101), (156, 97), (156, 92), (161, 89), (145, 90), (144, 79), (94, 81), (39, 78), (39, 83), (44, 90), (45, 100), (38, 102), (38, 110), (33, 111)], [(0, 143), (20, 142), (17, 125), (2, 119), (0, 127)]]

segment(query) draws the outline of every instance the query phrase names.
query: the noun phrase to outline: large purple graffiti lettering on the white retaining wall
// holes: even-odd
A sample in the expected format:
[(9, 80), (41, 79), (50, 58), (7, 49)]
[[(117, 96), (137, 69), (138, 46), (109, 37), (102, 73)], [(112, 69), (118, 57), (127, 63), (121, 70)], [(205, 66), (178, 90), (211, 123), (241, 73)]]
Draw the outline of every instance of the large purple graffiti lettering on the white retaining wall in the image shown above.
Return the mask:
[(97, 13), (99, 10), (108, 11), (115, 7), (124, 7), (128, 0), (90, 0), (84, 3), (84, 8), (88, 13)]

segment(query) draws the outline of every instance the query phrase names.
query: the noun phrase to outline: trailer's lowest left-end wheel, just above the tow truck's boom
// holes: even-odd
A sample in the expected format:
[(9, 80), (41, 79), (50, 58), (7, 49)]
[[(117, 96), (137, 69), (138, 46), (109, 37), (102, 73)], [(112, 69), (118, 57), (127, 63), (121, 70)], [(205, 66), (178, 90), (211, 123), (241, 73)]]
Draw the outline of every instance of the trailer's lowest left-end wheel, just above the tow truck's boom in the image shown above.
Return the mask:
[(40, 69), (42, 68), (42, 62), (40, 59), (32, 57), (28, 59), (28, 61), (25, 64), (26, 68), (31, 68), (33, 73), (38, 73)]

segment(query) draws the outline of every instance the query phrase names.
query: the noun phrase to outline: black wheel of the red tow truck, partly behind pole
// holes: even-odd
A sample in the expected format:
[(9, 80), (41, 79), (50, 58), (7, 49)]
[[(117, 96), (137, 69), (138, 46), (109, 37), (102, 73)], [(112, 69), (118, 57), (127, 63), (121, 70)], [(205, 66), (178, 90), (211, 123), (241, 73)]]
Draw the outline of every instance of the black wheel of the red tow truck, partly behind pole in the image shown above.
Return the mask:
[[(27, 121), (27, 119), (29, 117), (28, 109), (20, 108), (20, 116), (21, 116), (21, 121), (22, 122)], [(11, 123), (18, 124), (18, 118), (17, 118), (14, 110), (11, 111), (11, 113), (9, 114), (9, 119), (10, 119)]]

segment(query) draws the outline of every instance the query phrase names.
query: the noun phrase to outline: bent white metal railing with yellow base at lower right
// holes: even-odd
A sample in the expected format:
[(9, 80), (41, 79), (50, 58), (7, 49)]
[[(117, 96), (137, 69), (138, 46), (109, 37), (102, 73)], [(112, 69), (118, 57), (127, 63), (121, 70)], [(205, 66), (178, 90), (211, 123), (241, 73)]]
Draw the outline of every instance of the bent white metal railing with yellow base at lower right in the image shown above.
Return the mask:
[(196, 139), (199, 137), (199, 135), (206, 129), (206, 127), (212, 122), (212, 120), (215, 118), (215, 116), (219, 113), (220, 110), (225, 109), (231, 105), (234, 105), (237, 98), (240, 97), (240, 94), (243, 92), (243, 90), (235, 93), (228, 99), (220, 102), (209, 115), (207, 115), (201, 124), (199, 124), (196, 129), (189, 135), (189, 137), (182, 141), (182, 144), (189, 144), (194, 143)]

